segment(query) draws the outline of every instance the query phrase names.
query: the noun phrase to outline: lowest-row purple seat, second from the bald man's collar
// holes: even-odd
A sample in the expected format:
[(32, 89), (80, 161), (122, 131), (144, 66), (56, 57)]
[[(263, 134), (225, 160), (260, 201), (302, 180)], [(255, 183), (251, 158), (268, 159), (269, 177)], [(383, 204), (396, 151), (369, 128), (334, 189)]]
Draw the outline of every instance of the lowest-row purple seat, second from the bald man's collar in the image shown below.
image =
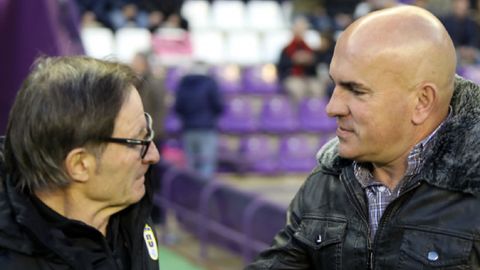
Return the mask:
[(247, 135), (241, 139), (240, 153), (249, 170), (275, 174), (277, 170), (278, 139), (264, 134)]

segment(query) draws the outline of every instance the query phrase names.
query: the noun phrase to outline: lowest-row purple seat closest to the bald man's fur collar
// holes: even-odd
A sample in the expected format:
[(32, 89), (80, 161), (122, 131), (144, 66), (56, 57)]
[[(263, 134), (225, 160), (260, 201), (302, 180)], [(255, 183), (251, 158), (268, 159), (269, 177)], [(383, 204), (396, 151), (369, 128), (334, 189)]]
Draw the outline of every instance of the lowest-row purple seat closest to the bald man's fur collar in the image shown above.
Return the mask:
[(279, 169), (287, 172), (309, 172), (317, 161), (315, 154), (320, 149), (316, 136), (305, 134), (288, 135), (280, 141)]

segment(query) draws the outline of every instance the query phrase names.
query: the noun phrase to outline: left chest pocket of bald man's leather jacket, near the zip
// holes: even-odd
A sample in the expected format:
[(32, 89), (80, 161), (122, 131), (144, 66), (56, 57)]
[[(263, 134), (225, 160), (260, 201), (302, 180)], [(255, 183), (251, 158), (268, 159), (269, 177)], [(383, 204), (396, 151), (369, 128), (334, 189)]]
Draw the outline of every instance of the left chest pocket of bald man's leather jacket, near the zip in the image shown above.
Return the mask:
[(347, 221), (337, 217), (306, 215), (294, 238), (307, 247), (315, 269), (342, 269), (342, 243)]

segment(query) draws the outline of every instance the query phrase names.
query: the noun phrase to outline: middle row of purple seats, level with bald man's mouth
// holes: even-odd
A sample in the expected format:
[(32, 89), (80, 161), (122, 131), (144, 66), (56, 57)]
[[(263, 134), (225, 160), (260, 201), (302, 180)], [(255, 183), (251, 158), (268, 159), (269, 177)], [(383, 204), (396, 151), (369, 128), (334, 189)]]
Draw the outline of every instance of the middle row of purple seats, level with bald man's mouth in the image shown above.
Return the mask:
[[(306, 98), (297, 105), (288, 97), (278, 94), (261, 98), (231, 96), (219, 126), (222, 132), (232, 134), (329, 133), (335, 131), (336, 122), (326, 114), (326, 103), (324, 99)], [(167, 115), (165, 128), (170, 134), (177, 133), (181, 128), (173, 111)]]

